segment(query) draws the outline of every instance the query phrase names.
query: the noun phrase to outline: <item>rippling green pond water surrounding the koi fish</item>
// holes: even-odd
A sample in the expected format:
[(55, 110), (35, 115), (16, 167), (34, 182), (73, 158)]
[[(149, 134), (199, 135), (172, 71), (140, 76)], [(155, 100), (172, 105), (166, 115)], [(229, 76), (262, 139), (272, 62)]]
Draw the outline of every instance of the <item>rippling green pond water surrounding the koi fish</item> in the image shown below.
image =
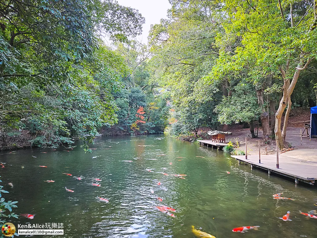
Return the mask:
[[(18, 201), (14, 210), (17, 214), (35, 214), (33, 220), (20, 217), (13, 222), (63, 223), (64, 235), (55, 237), (69, 238), (192, 238), (192, 225), (217, 238), (317, 237), (317, 220), (299, 214), (299, 210), (317, 208), (313, 186), (295, 187), (293, 180), (239, 166), (222, 151), (167, 135), (102, 137), (95, 139), (91, 148), (96, 149), (92, 154), (85, 154), (77, 146), (73, 150), (35, 148), (1, 155), (1, 162), (6, 163), (0, 169), (2, 185), (10, 191), (4, 194), (6, 200)], [(174, 174), (187, 176), (180, 179)], [(79, 176), (81, 181), (76, 180)], [(101, 187), (91, 185), (94, 178), (102, 179)], [(14, 187), (10, 188), (8, 182)], [(74, 193), (67, 192), (65, 186)], [(281, 192), (296, 201), (272, 198)], [(109, 203), (100, 202), (97, 196), (107, 198)], [(172, 213), (176, 217), (155, 208), (160, 205), (175, 208)], [(279, 219), (287, 211), (293, 221)], [(232, 232), (241, 226), (260, 228)]]

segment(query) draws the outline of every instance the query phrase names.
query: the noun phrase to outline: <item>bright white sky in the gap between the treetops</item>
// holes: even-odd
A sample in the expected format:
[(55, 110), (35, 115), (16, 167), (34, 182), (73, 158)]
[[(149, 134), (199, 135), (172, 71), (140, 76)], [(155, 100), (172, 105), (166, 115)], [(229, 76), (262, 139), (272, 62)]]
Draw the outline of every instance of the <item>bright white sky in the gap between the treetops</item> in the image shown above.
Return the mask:
[(145, 17), (145, 24), (143, 24), (142, 35), (137, 36), (136, 39), (144, 44), (147, 44), (147, 36), (149, 34), (151, 25), (160, 23), (161, 18), (166, 18), (167, 10), (171, 8), (168, 0), (117, 0), (120, 5), (132, 7), (139, 10), (139, 13)]

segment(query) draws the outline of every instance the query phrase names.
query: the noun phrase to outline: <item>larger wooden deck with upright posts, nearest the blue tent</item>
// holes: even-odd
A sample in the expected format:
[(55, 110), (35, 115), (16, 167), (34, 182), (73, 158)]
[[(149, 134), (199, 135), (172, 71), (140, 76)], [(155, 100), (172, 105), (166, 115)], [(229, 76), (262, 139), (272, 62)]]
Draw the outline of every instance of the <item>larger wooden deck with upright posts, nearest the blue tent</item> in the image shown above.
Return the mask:
[[(268, 174), (276, 173), (295, 179), (298, 181), (314, 184), (317, 179), (317, 162), (307, 161), (305, 159), (296, 159), (284, 155), (279, 155), (279, 169), (276, 169), (276, 155), (261, 155), (261, 163), (259, 163), (259, 155), (231, 155), (241, 162), (251, 165), (251, 169), (258, 167), (268, 170)], [(303, 155), (303, 158), (305, 156)]]

